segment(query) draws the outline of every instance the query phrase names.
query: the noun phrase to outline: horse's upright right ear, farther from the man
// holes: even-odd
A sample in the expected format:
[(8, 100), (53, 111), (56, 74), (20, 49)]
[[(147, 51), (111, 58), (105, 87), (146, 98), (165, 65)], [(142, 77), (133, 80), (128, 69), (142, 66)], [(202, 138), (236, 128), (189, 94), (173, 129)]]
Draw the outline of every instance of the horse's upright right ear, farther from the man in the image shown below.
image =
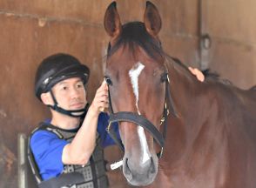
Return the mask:
[(146, 2), (144, 23), (149, 34), (156, 37), (161, 30), (162, 21), (157, 7), (149, 1)]

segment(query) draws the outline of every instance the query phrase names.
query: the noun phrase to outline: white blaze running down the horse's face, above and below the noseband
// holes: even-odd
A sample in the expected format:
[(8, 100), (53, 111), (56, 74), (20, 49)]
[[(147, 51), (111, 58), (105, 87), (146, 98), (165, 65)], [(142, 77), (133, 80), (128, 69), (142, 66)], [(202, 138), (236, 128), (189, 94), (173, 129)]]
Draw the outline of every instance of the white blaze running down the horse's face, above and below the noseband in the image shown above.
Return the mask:
[[(131, 77), (131, 85), (132, 85), (133, 93), (136, 98), (135, 105), (137, 107), (137, 111), (138, 111), (139, 115), (140, 115), (140, 112), (138, 110), (138, 76), (140, 75), (141, 71), (143, 71), (144, 68), (145, 68), (145, 65), (138, 62), (129, 71), (129, 76)], [(139, 141), (142, 146), (142, 152), (143, 152), (142, 163), (145, 163), (147, 160), (150, 159), (150, 157), (149, 157), (148, 144), (147, 144), (146, 138), (145, 138), (145, 131), (144, 131), (144, 128), (141, 126), (138, 126), (138, 137), (139, 137)]]

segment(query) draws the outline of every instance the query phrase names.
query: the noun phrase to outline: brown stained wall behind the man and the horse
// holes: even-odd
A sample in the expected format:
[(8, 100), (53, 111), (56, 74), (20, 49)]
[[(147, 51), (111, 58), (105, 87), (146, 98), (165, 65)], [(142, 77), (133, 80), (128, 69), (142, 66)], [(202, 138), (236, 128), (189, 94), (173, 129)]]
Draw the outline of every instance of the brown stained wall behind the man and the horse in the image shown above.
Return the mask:
[[(256, 3), (205, 0), (212, 37), (209, 66), (241, 87), (256, 83)], [(118, 0), (122, 22), (143, 20), (145, 0)], [(40, 61), (66, 52), (91, 68), (89, 100), (103, 79), (109, 37), (104, 11), (111, 0), (0, 0), (0, 187), (17, 187), (17, 133), (28, 134), (48, 110), (33, 93)], [(165, 51), (199, 67), (199, 0), (154, 0), (163, 19)], [(253, 6), (254, 5), (254, 6)], [(112, 161), (117, 148), (106, 150)], [(111, 187), (125, 187), (121, 171), (110, 172)]]

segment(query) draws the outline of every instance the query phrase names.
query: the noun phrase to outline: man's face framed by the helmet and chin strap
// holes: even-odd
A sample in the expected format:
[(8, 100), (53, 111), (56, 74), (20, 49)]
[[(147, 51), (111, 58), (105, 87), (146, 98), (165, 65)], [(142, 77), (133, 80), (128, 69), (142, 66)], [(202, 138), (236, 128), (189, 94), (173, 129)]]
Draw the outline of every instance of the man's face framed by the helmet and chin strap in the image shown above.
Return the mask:
[(65, 79), (52, 87), (57, 104), (68, 111), (83, 109), (86, 100), (84, 83), (79, 77)]

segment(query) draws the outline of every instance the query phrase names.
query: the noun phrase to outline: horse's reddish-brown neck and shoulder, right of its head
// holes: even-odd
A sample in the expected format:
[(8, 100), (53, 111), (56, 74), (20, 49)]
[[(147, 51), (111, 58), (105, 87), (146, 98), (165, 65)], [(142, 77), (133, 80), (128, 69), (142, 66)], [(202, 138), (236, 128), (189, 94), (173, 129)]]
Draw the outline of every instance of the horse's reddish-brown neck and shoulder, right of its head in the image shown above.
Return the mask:
[[(248, 182), (247, 177), (256, 169), (256, 165), (248, 168), (256, 156), (253, 138), (256, 128), (253, 112), (249, 116), (246, 108), (239, 110), (239, 105), (246, 105), (246, 96), (240, 96), (243, 98), (240, 103), (238, 93), (222, 84), (199, 83), (179, 65), (170, 64), (168, 70), (172, 100), (179, 114), (179, 118), (170, 118), (168, 122), (165, 143), (172, 150), (165, 150), (164, 156), (170, 163), (169, 176), (178, 174), (177, 187), (189, 187), (198, 178), (207, 179), (205, 183), (212, 187), (227, 187), (223, 185), (230, 177), (234, 180), (242, 177), (239, 181)], [(237, 104), (237, 108), (233, 104)], [(239, 171), (234, 174), (233, 169)], [(196, 176), (185, 177), (187, 171)], [(239, 181), (236, 187), (242, 187)], [(205, 183), (197, 187), (205, 187)]]

